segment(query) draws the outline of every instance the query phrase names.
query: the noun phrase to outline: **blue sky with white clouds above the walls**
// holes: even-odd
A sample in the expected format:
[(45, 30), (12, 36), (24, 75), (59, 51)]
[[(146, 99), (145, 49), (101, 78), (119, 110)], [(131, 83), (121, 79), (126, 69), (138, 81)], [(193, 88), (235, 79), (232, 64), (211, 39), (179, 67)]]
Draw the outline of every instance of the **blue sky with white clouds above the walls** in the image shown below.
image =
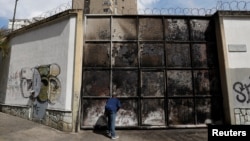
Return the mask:
[[(13, 19), (16, 0), (0, 0), (0, 28), (7, 28)], [(154, 8), (206, 8), (216, 7), (218, 1), (242, 0), (137, 0), (138, 9)], [(244, 0), (248, 1), (248, 0)], [(58, 7), (66, 7), (71, 0), (17, 0), (15, 19), (32, 19)]]

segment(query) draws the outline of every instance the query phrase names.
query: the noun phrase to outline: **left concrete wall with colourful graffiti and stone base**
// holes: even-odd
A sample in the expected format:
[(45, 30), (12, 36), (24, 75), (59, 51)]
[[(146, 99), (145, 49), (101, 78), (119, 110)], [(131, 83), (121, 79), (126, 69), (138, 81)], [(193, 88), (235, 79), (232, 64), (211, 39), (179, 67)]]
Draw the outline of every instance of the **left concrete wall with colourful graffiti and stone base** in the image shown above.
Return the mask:
[(0, 62), (0, 111), (72, 131), (75, 32), (69, 15), (11, 35)]

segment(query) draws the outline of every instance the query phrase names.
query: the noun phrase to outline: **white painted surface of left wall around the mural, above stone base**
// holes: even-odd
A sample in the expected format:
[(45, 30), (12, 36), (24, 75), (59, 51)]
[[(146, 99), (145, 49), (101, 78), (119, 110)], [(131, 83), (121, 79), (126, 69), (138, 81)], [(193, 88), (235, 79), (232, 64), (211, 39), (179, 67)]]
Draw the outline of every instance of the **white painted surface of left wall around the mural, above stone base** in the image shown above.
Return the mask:
[(11, 40), (10, 68), (5, 104), (27, 105), (20, 89), (22, 68), (58, 64), (61, 95), (48, 109), (71, 111), (76, 19), (71, 17), (20, 34)]

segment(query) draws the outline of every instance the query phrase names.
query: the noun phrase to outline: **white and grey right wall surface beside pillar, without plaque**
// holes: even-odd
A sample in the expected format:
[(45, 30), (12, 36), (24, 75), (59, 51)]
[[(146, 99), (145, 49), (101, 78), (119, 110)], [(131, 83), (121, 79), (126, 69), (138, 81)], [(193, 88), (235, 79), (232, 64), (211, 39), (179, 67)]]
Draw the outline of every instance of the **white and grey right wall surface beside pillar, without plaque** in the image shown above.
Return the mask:
[[(227, 70), (228, 99), (232, 124), (240, 122), (239, 112), (250, 107), (250, 18), (224, 17), (225, 61)], [(243, 51), (229, 51), (229, 45), (244, 45)], [(244, 115), (244, 114), (243, 114)], [(243, 118), (246, 119), (246, 118)]]

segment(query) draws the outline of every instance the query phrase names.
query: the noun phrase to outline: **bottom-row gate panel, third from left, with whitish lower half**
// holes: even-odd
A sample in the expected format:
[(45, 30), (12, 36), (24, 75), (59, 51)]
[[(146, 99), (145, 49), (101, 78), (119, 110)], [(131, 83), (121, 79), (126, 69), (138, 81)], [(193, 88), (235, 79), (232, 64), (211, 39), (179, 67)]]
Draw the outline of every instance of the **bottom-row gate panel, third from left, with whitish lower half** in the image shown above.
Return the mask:
[(164, 99), (143, 99), (142, 125), (165, 125)]

